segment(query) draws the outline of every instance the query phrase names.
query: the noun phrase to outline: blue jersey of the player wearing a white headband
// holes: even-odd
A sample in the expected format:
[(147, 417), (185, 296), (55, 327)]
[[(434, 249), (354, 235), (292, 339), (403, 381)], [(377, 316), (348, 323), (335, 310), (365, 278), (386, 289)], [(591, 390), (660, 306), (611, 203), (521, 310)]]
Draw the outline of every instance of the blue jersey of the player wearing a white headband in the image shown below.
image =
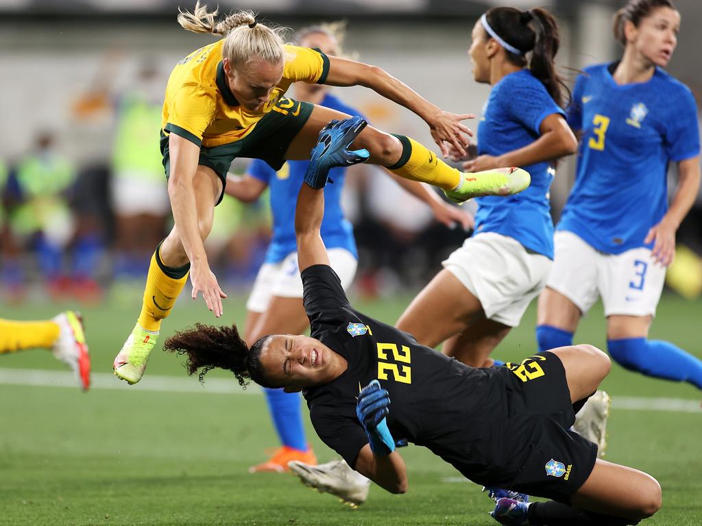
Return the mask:
[[(493, 86), (478, 126), (478, 154), (498, 156), (540, 137), (541, 122), (564, 114), (529, 69), (505, 76)], [(529, 188), (515, 196), (480, 197), (475, 232), (496, 232), (515, 238), (525, 248), (553, 259), (553, 222), (548, 187), (550, 164), (522, 166), (531, 175)]]

